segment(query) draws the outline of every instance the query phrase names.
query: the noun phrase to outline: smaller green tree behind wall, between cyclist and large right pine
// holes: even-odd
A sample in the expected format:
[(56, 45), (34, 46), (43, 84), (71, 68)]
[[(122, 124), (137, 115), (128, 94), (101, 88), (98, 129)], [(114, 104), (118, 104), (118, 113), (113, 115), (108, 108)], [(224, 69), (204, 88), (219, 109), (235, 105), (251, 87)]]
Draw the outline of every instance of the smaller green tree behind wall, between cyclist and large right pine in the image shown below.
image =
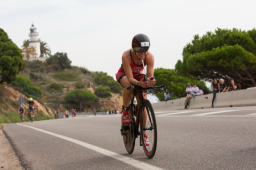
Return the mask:
[[(171, 99), (179, 99), (180, 97), (186, 96), (187, 94), (185, 93), (185, 89), (187, 88), (188, 83), (196, 83), (196, 86), (199, 87), (200, 90), (203, 90), (204, 94), (209, 94), (210, 92), (207, 86), (205, 86), (204, 82), (196, 80), (196, 78), (191, 79), (184, 76), (179, 76), (174, 69), (155, 69), (154, 76), (156, 80), (155, 86), (166, 84), (166, 88), (169, 90)], [(164, 92), (162, 90), (155, 89), (151, 92), (156, 95), (160, 101), (164, 100)]]

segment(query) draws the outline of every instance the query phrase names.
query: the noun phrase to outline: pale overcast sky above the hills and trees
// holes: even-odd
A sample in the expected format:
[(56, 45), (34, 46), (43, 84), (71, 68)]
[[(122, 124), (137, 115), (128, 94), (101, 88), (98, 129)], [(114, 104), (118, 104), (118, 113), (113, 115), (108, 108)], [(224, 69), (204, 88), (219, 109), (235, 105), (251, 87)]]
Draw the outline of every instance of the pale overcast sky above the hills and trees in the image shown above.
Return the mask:
[(246, 0), (0, 0), (0, 28), (20, 47), (34, 22), (52, 53), (68, 53), (72, 65), (104, 71), (115, 79), (134, 35), (150, 38), (155, 68), (174, 69), (194, 35), (217, 27), (253, 29), (255, 6), (256, 1)]

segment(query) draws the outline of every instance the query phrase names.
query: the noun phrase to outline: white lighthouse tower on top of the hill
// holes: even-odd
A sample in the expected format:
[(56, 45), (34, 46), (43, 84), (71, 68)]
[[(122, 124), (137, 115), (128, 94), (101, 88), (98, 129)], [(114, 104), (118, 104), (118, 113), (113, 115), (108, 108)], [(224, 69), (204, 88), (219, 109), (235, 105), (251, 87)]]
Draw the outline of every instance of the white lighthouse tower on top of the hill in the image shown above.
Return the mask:
[(29, 41), (29, 47), (34, 46), (35, 48), (35, 53), (31, 57), (40, 57), (40, 39), (38, 39), (39, 33), (36, 32), (36, 27), (34, 24), (30, 27), (30, 33), (28, 34), (30, 36), (30, 41)]

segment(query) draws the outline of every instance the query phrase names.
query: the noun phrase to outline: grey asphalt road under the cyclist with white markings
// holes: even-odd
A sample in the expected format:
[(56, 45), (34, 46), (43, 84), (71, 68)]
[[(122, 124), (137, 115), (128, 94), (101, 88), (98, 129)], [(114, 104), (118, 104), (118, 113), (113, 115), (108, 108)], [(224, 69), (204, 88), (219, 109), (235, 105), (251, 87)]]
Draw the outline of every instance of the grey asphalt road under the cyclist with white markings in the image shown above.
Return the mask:
[(156, 115), (152, 159), (138, 138), (133, 154), (127, 154), (120, 115), (6, 124), (3, 130), (26, 169), (256, 169), (256, 107)]

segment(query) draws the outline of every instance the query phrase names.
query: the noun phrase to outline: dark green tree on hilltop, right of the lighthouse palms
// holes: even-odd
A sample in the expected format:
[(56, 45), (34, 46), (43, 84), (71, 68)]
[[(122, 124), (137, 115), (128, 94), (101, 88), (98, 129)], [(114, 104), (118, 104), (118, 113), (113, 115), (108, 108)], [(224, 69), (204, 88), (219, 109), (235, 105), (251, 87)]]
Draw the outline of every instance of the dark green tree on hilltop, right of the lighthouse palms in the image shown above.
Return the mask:
[(55, 53), (46, 59), (47, 65), (57, 64), (61, 69), (71, 69), (72, 61), (69, 60), (67, 53)]

